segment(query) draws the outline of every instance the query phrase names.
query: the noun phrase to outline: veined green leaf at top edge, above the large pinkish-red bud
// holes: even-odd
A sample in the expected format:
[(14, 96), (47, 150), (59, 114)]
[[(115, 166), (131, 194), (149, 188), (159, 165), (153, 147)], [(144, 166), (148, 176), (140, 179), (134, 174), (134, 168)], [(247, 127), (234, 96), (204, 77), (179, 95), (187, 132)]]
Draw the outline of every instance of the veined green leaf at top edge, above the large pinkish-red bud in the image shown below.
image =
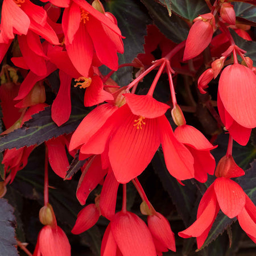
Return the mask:
[(198, 15), (210, 12), (205, 0), (172, 0), (172, 11), (191, 22)]

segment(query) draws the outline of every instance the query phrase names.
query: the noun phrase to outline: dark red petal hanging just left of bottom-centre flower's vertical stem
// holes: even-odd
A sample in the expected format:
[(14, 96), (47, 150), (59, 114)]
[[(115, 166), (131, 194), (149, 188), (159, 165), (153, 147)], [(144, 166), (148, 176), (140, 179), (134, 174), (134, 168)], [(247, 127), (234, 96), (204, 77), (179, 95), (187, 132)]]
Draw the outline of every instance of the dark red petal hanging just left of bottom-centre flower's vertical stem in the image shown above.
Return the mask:
[(115, 179), (112, 170), (109, 170), (101, 190), (100, 209), (102, 216), (112, 220), (115, 214), (115, 204), (117, 203), (117, 189), (119, 183)]

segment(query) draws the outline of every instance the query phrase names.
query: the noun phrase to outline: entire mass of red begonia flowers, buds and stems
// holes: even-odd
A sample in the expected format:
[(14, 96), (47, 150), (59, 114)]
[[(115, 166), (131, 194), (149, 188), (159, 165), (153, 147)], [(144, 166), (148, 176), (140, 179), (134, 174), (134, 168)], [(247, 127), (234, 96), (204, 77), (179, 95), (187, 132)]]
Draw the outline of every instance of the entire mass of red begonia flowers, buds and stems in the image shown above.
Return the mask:
[[(101, 255), (154, 256), (176, 251), (169, 221), (154, 209), (138, 180), (156, 151), (163, 152), (169, 174), (180, 185), (188, 179), (205, 183), (208, 175), (214, 175), (215, 171), (216, 179), (201, 198), (197, 220), (179, 232), (180, 237), (196, 237), (200, 249), (221, 210), (229, 218), (237, 217), (241, 228), (256, 242), (256, 207), (232, 180), (245, 174), (234, 162), (233, 139), (245, 146), (251, 130), (256, 127), (256, 72), (253, 61), (237, 46), (228, 29), (233, 26), (237, 34), (249, 37), (236, 27), (233, 5), (217, 0), (212, 6), (207, 1), (210, 13), (194, 19), (187, 40), (179, 44), (167, 39), (155, 26), (148, 26), (144, 53), (132, 63), (118, 66), (117, 53), (124, 52), (124, 37), (115, 16), (106, 12), (99, 0), (92, 4), (84, 0), (42, 2), (44, 4), (38, 6), (30, 0), (3, 0), (0, 24), (0, 60), (3, 61), (0, 99), (6, 128), (1, 135), (26, 129), (27, 122), (35, 114), (49, 109), (49, 105), (51, 118), (60, 131), (43, 141), (46, 148), (44, 207), (39, 219), (44, 227), (33, 255), (71, 255), (68, 238), (57, 225), (48, 196), (48, 163), (56, 175), (71, 179), (67, 151), (77, 162), (84, 161), (76, 189), (79, 203), (85, 205), (90, 193), (100, 188), (94, 203), (79, 212), (71, 232), (85, 232), (101, 216), (108, 219)], [(213, 38), (217, 30), (220, 33)], [(16, 68), (5, 60), (10, 46), (11, 61)], [(162, 56), (155, 59), (153, 52), (158, 48)], [(207, 49), (211, 57), (199, 77), (203, 63), (201, 53)], [(112, 71), (103, 75), (102, 65)], [(134, 80), (121, 87), (110, 76), (126, 66), (136, 72)], [(56, 71), (59, 90), (54, 100), (49, 100), (44, 81)], [(146, 87), (147, 91), (137, 90), (139, 82), (150, 72), (154, 73), (154, 80)], [(216, 118), (218, 125), (228, 131), (229, 143), (217, 167), (211, 153), (217, 147), (213, 144), (214, 137), (209, 142), (201, 131), (187, 124), (183, 114), (186, 106), (177, 104), (177, 73), (198, 75), (198, 89), (202, 94), (207, 93), (209, 82), (220, 75), (216, 104), (219, 115), (213, 108), (212, 113), (219, 117)], [(159, 89), (163, 74), (168, 77), (170, 87), (170, 99), (164, 102), (156, 100), (156, 88)], [(18, 76), (22, 76), (21, 84)], [(72, 83), (83, 94), (84, 107), (95, 108), (65, 134), (61, 128), (68, 125), (71, 115)], [(56, 85), (50, 86), (55, 90)], [(42, 141), (5, 150), (1, 186), (13, 182), (40, 143)], [(147, 224), (143, 217), (127, 209), (126, 186), (130, 182), (142, 199), (140, 210), (147, 216)], [(123, 192), (122, 209), (116, 210), (119, 187)], [(4, 190), (6, 192), (6, 188)]]

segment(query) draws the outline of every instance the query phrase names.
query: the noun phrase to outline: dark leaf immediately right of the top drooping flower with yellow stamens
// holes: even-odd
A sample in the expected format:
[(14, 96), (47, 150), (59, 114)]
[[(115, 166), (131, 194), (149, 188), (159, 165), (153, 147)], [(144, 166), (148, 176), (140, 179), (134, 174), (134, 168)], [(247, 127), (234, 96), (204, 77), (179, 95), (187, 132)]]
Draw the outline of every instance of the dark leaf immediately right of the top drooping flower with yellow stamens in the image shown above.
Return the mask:
[[(120, 28), (123, 39), (125, 52), (118, 54), (119, 65), (131, 63), (138, 53), (144, 52), (144, 36), (147, 34), (146, 25), (151, 23), (150, 16), (144, 10), (144, 6), (137, 0), (123, 1), (110, 0), (106, 1), (106, 11), (114, 14), (117, 18), (118, 27)], [(110, 71), (105, 68), (105, 72)], [(132, 80), (132, 67), (121, 68), (114, 73), (112, 78), (119, 86), (126, 86)]]

